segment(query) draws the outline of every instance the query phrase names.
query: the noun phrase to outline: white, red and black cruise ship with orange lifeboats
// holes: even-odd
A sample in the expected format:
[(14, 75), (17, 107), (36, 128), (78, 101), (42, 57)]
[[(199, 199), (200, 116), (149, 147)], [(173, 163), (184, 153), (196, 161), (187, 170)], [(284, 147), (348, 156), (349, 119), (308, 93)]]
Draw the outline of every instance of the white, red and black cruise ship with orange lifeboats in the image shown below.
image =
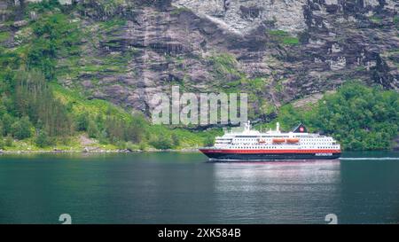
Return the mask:
[(302, 124), (281, 132), (277, 123), (276, 130), (261, 133), (248, 121), (242, 132), (216, 137), (213, 147), (200, 152), (211, 161), (332, 160), (340, 158), (340, 144), (332, 137), (308, 133)]

